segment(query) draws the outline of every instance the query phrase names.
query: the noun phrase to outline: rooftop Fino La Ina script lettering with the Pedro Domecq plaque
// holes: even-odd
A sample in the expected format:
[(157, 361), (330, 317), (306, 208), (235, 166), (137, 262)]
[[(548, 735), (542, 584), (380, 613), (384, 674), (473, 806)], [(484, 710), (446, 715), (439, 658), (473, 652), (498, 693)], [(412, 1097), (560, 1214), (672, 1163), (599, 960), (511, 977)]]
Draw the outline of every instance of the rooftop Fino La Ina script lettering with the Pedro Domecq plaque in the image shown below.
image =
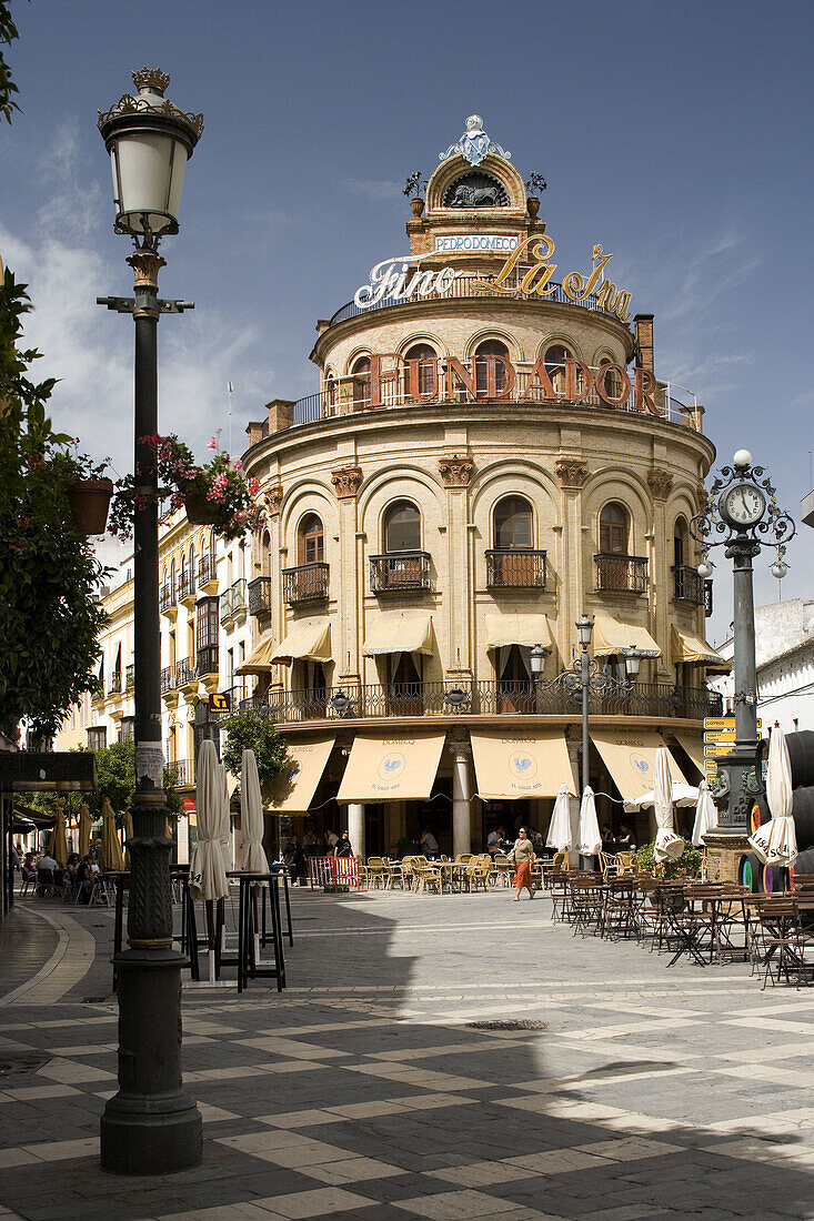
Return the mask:
[[(436, 237), (435, 250), (456, 254), (511, 252), (496, 276), (491, 280), (473, 281), (472, 287), (475, 291), (545, 298), (557, 289), (557, 284), (551, 283), (551, 277), (557, 270), (557, 264), (550, 261), (554, 254), (554, 239), (546, 233), (535, 234), (523, 242), (518, 242), (516, 237), (501, 237), (495, 233)], [(455, 282), (467, 275), (466, 270), (456, 267), (441, 267), (439, 271), (411, 269), (409, 264), (420, 258), (427, 256), (396, 255), (376, 263), (370, 269), (369, 283), (357, 288), (353, 303), (359, 309), (370, 309), (384, 300), (409, 302), (424, 297), (445, 297), (452, 292)], [(590, 275), (583, 276), (579, 271), (568, 271), (562, 277), (562, 292), (568, 300), (576, 303), (590, 298), (594, 309), (611, 314), (620, 322), (629, 322), (631, 294), (625, 289), (617, 289), (616, 284), (603, 276), (611, 259), (612, 255), (603, 254), (601, 245), (595, 245)]]

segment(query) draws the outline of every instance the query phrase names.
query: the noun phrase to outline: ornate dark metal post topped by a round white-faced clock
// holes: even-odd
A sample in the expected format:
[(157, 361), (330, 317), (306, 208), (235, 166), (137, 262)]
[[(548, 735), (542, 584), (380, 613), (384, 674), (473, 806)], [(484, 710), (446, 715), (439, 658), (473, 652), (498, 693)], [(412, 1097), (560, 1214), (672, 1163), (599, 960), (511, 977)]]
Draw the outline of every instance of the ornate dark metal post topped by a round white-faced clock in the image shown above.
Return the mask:
[[(794, 523), (777, 507), (771, 480), (763, 466), (752, 465), (748, 449), (738, 449), (731, 466), (716, 476), (703, 513), (689, 523), (689, 532), (703, 546), (698, 571), (710, 575), (710, 547), (725, 547), (732, 560), (735, 592), (735, 747), (719, 759), (711, 792), (717, 806), (715, 834), (743, 838), (749, 834), (749, 812), (758, 791), (754, 757), (758, 745), (758, 678), (754, 651), (754, 595), (752, 560), (761, 547), (776, 547), (772, 574), (788, 571), (783, 556), (794, 536)], [(716, 536), (721, 537), (716, 537)], [(771, 536), (771, 537), (769, 537)], [(702, 571), (704, 569), (704, 571)], [(742, 846), (733, 844), (735, 849)]]

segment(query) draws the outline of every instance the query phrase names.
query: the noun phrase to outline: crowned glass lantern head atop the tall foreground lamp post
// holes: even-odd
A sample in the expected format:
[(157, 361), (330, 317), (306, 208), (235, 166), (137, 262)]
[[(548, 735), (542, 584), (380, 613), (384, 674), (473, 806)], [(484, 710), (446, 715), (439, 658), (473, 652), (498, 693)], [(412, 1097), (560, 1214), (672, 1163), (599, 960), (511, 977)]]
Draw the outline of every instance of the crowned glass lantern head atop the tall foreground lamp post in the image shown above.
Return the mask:
[(99, 131), (110, 154), (116, 232), (142, 237), (149, 248), (178, 232), (183, 172), (203, 132), (203, 116), (187, 115), (164, 90), (160, 68), (133, 72), (136, 98), (123, 94), (99, 111)]

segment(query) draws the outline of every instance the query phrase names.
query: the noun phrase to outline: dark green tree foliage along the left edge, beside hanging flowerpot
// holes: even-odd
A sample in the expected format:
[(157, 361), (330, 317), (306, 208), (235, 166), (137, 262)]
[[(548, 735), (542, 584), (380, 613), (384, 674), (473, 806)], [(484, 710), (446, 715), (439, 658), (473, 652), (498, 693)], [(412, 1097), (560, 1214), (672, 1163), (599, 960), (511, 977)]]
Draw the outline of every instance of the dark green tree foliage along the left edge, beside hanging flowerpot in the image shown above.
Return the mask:
[[(0, 13), (1, 16), (1, 13)], [(97, 678), (104, 570), (71, 521), (62, 457), (72, 438), (46, 415), (54, 379), (34, 382), (40, 355), (21, 348), (31, 310), (6, 269), (0, 286), (0, 728), (27, 718), (51, 737)]]

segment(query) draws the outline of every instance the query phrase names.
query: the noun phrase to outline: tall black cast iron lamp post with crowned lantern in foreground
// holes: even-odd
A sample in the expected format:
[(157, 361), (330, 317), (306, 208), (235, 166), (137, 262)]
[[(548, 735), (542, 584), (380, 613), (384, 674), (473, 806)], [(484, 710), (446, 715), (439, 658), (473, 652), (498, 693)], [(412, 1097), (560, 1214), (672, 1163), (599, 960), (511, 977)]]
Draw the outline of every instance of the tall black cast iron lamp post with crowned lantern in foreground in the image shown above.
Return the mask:
[(203, 131), (165, 99), (169, 76), (158, 68), (133, 72), (137, 96), (125, 94), (99, 112), (110, 153), (115, 231), (136, 252), (134, 297), (99, 304), (136, 322), (136, 490), (133, 558), (136, 796), (128, 949), (116, 956), (119, 996), (119, 1093), (101, 1117), (101, 1167), (126, 1175), (161, 1175), (197, 1166), (203, 1153), (200, 1114), (181, 1079), (181, 967), (172, 947), (171, 841), (165, 836), (163, 791), (158, 476), (155, 455), (142, 438), (158, 432), (158, 320), (186, 302), (158, 298), (164, 259), (160, 238), (178, 232), (178, 205), (187, 159)]

